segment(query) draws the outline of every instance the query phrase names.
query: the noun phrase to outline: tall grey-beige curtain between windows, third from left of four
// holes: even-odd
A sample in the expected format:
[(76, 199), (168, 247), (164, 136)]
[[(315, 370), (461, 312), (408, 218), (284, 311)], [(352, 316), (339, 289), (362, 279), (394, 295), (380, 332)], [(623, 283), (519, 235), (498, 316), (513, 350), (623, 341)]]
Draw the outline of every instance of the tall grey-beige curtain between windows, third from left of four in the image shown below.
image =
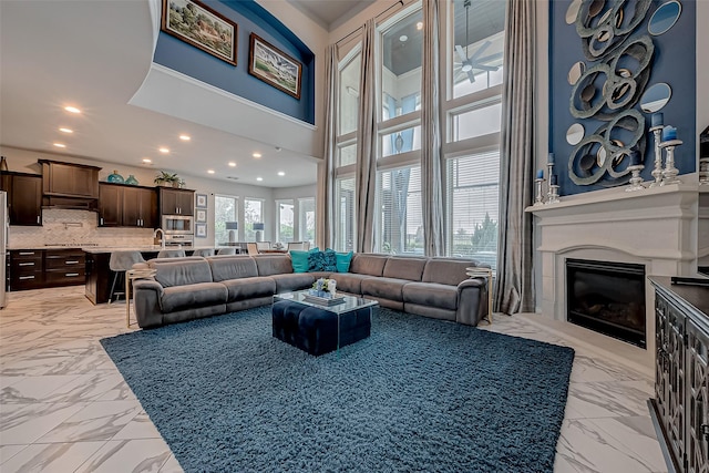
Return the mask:
[(427, 256), (444, 254), (439, 94), (439, 0), (423, 1), (421, 74), (421, 199)]

